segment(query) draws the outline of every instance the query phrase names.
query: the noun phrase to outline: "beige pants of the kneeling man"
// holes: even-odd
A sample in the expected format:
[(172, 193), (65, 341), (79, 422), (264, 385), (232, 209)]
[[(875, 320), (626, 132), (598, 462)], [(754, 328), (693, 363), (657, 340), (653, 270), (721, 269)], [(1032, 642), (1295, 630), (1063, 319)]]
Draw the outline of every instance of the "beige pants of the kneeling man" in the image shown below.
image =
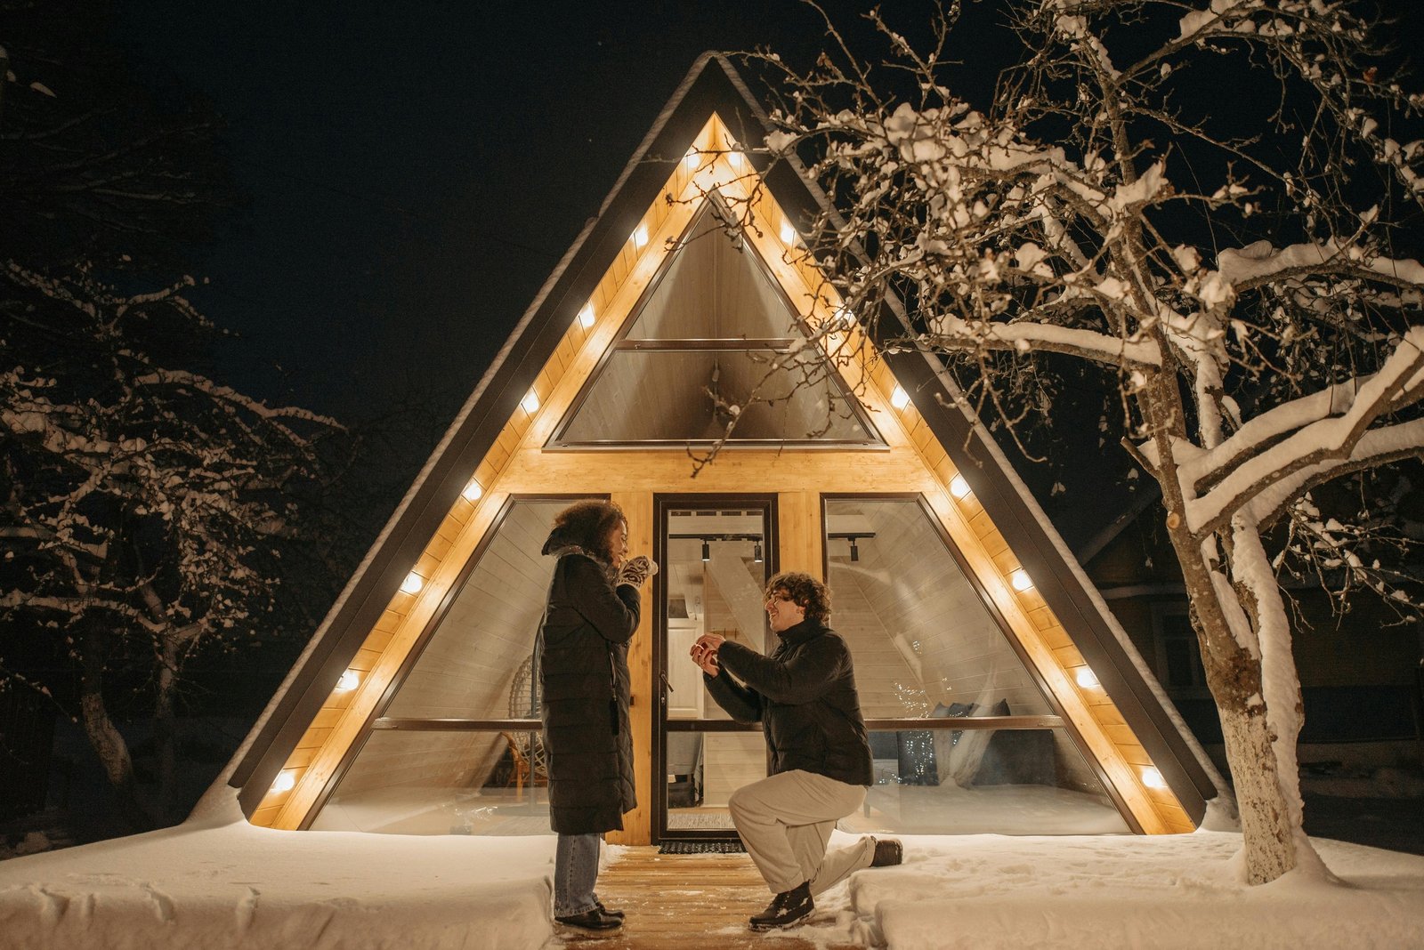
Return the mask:
[(807, 880), (810, 892), (819, 895), (853, 870), (869, 868), (876, 856), (876, 842), (869, 836), (826, 853), (836, 821), (864, 801), (863, 785), (793, 769), (743, 785), (732, 794), (728, 806), (746, 853), (773, 895)]

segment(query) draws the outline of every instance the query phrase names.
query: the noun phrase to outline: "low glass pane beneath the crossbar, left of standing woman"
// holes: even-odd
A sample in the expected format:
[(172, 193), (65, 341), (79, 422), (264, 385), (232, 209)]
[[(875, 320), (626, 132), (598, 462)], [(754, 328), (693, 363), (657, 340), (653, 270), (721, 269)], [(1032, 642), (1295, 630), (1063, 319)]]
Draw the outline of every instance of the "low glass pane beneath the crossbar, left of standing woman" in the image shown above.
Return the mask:
[(528, 734), (376, 730), (313, 831), (548, 835), (547, 779)]

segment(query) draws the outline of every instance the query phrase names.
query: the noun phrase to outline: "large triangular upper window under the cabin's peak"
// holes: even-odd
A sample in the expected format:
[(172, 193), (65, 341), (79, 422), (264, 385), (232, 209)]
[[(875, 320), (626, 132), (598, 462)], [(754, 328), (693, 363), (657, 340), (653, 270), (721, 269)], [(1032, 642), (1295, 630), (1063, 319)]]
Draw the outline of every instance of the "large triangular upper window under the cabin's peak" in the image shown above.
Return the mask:
[(881, 445), (786, 293), (708, 198), (551, 439)]

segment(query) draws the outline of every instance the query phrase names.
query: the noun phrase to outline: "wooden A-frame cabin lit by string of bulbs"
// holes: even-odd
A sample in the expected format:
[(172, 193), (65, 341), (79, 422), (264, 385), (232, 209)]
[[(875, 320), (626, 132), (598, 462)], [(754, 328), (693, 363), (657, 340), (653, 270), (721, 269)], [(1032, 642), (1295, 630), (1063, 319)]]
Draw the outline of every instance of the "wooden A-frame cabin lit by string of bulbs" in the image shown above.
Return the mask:
[[(765, 649), (759, 590), (786, 569), (829, 582), (856, 658), (877, 784), (854, 831), (1200, 821), (1216, 789), (1128, 636), (975, 420), (937, 398), (940, 364), (876, 358), (839, 311), (797, 245), (822, 195), (755, 151), (766, 131), (702, 57), (235, 758), (253, 823), (547, 832), (538, 549), (594, 495), (662, 565), (629, 657), (639, 808), (611, 840), (729, 833), (760, 735), (703, 695), (686, 647), (718, 630)], [(688, 447), (732, 414), (693, 478)]]

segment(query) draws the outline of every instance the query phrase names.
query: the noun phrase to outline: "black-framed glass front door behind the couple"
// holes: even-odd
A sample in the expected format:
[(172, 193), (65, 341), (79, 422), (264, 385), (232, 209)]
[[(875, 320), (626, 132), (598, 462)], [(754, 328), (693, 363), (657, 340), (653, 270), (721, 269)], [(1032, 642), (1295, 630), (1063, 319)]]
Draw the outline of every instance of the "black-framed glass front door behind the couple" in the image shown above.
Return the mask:
[(762, 587), (775, 572), (775, 496), (666, 495), (654, 503), (658, 563), (654, 668), (654, 833), (735, 838), (726, 802), (766, 775), (760, 727), (733, 722), (702, 684), (688, 651), (703, 633), (766, 651)]

